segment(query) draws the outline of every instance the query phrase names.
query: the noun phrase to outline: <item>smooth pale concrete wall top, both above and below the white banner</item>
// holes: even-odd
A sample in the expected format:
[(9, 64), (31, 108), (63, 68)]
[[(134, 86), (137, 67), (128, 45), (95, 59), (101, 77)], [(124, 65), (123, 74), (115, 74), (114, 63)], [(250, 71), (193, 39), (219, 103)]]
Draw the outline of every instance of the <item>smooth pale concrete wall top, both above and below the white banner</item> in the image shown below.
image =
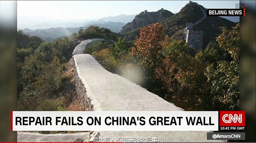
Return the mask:
[[(73, 56), (78, 77), (82, 80), (86, 96), (91, 99), (94, 111), (182, 111), (182, 108), (167, 102), (128, 79), (104, 69), (89, 54)], [(158, 137), (164, 142), (217, 142), (207, 140), (208, 131), (95, 131), (95, 137)]]

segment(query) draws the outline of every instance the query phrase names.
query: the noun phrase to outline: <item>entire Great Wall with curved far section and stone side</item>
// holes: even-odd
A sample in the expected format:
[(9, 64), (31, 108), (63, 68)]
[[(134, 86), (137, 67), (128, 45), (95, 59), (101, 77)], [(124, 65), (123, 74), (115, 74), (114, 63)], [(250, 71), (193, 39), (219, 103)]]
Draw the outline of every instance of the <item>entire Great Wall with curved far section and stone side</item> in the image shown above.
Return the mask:
[[(86, 111), (183, 111), (182, 108), (167, 102), (130, 80), (113, 74), (102, 67), (94, 57), (83, 54), (90, 42), (102, 39), (81, 41), (73, 52), (70, 64), (75, 69), (78, 98)], [(95, 138), (118, 137), (161, 137), (164, 142), (220, 142), (207, 140), (209, 131), (90, 131), (68, 134), (39, 134), (18, 132), (18, 142), (88, 142)]]

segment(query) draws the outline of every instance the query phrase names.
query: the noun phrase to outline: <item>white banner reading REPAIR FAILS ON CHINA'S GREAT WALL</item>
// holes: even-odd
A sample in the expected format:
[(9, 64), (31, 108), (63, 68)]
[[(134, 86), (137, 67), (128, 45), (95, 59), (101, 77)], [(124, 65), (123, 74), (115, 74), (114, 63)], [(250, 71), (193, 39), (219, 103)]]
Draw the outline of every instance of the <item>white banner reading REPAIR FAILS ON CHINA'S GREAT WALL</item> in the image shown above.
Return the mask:
[(13, 111), (13, 131), (218, 131), (218, 111)]

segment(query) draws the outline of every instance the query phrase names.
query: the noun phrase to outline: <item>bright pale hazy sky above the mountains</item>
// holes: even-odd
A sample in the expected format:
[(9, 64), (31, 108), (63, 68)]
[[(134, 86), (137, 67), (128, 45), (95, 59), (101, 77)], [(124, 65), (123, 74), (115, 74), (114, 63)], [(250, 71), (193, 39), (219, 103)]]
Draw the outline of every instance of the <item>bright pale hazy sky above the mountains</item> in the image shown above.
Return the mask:
[[(144, 10), (153, 12), (164, 8), (177, 13), (189, 1), (17, 1), (18, 29), (77, 27), (86, 21), (135, 15)], [(193, 1), (206, 8), (235, 8), (239, 1)], [(66, 24), (76, 22), (76, 25)], [(63, 24), (65, 23), (65, 24)], [(38, 25), (39, 24), (39, 25)]]

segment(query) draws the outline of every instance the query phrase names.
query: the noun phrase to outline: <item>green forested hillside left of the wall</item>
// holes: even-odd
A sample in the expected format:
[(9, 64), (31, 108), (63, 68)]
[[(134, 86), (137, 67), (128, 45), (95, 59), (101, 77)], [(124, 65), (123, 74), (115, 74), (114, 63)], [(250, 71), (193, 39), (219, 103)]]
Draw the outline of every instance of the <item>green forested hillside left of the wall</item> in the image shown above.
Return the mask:
[(45, 43), (17, 32), (18, 110), (82, 110), (71, 105), (76, 95), (73, 69), (68, 61), (80, 40), (116, 39), (110, 29), (90, 26), (78, 33)]

